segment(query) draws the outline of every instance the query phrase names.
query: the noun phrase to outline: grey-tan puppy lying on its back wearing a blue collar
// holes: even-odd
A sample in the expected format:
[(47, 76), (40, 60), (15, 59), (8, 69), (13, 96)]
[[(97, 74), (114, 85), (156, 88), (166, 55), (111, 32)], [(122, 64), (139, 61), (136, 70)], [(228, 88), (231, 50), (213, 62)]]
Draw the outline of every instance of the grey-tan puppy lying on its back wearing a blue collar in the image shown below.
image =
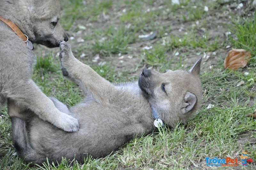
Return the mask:
[[(193, 118), (201, 106), (201, 58), (189, 71), (158, 73), (144, 69), (138, 82), (114, 85), (78, 61), (66, 42), (60, 43), (60, 49), (63, 75), (88, 95), (70, 110), (57, 99), (52, 100), (62, 112), (79, 120), (80, 129), (67, 133), (37, 116), (12, 117), (13, 145), (27, 162), (41, 164), (46, 157), (50, 162), (61, 157), (83, 162), (87, 154), (104, 157), (134, 136), (153, 132), (155, 118), (175, 127), (179, 121)], [(20, 117), (30, 112), (12, 108), (9, 111)]]

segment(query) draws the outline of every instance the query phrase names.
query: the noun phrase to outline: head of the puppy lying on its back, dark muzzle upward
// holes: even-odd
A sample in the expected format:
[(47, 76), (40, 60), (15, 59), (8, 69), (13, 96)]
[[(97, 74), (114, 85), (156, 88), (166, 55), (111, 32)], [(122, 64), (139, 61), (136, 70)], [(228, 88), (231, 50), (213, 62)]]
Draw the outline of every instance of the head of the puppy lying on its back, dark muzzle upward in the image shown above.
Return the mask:
[(140, 89), (165, 124), (175, 127), (179, 121), (186, 123), (200, 108), (202, 102), (200, 64), (201, 58), (189, 71), (167, 70), (159, 73), (144, 69), (141, 73)]

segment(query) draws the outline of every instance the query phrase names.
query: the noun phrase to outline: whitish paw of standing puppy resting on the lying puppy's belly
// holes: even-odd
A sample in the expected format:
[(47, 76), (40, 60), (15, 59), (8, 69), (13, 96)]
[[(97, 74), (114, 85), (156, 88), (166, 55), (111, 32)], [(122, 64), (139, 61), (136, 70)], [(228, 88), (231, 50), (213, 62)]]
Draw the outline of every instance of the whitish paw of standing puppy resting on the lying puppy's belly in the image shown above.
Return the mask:
[(66, 132), (76, 132), (79, 130), (78, 120), (72, 116), (60, 112), (61, 115), (58, 117), (58, 120), (54, 125)]

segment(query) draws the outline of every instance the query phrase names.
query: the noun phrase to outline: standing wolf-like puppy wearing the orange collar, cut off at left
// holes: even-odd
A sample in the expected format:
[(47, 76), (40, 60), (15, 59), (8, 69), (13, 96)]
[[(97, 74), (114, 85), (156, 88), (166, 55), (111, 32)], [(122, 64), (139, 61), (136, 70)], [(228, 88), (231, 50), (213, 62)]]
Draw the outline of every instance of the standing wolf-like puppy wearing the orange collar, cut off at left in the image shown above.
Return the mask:
[[(59, 23), (60, 0), (1, 0), (0, 16), (16, 24), (32, 43), (52, 48), (68, 41)], [(35, 62), (35, 53), (0, 20), (0, 105), (13, 100), (15, 108), (27, 107), (58, 128), (77, 131), (78, 121), (60, 112), (32, 81)]]

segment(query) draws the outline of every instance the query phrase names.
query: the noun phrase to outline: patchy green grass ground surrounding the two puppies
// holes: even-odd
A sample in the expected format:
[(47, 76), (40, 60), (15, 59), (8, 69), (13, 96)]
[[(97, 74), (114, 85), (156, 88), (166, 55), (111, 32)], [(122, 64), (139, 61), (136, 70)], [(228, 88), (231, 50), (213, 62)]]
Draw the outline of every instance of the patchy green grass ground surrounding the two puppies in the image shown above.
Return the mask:
[[(145, 66), (161, 72), (188, 69), (204, 52), (209, 54), (210, 58), (204, 58), (201, 66), (204, 100), (201, 110), (186, 125), (180, 124), (173, 129), (165, 126), (133, 139), (104, 158), (87, 158), (83, 165), (63, 158), (59, 164), (45, 162), (43, 166), (29, 167), (15, 154), (7, 108), (1, 107), (0, 169), (206, 169), (205, 157), (238, 158), (244, 150), (251, 151), (249, 158), (256, 161), (256, 122), (246, 117), (256, 106), (254, 13), (246, 17), (219, 1), (204, 0), (196, 3), (183, 0), (179, 5), (167, 0), (156, 3), (146, 0), (84, 2), (63, 1), (61, 23), (75, 37), (69, 41), (74, 55), (111, 82), (137, 80)], [(204, 11), (204, 6), (209, 8), (208, 12)], [(250, 7), (244, 3), (244, 8)], [(102, 19), (103, 12), (109, 19)], [(232, 19), (227, 16), (212, 22), (224, 13)], [(91, 26), (87, 26), (88, 23)], [(86, 27), (80, 34), (77, 33), (78, 25)], [(217, 31), (223, 29), (232, 34), (212, 37), (217, 25), (222, 26)], [(151, 31), (158, 31), (156, 39), (143, 42), (138, 38)], [(80, 36), (84, 43), (77, 43)], [(227, 45), (252, 52), (246, 67), (236, 71), (224, 69)], [(152, 46), (152, 49), (143, 50), (145, 46)], [(44, 48), (37, 48), (44, 53), (38, 55), (33, 71), (36, 84), (46, 95), (55, 96), (68, 106), (80, 102), (83, 99), (81, 91), (62, 76), (59, 59), (55, 57), (59, 49), (45, 52)], [(213, 52), (217, 53), (215, 57)], [(81, 53), (89, 57), (80, 58)], [(99, 54), (100, 61), (105, 61), (104, 65), (92, 62), (95, 54)], [(131, 59), (128, 56), (132, 56)], [(239, 81), (244, 81), (244, 85), (237, 87)], [(207, 109), (209, 104), (214, 106)], [(252, 163), (246, 168), (255, 169), (256, 165)]]

